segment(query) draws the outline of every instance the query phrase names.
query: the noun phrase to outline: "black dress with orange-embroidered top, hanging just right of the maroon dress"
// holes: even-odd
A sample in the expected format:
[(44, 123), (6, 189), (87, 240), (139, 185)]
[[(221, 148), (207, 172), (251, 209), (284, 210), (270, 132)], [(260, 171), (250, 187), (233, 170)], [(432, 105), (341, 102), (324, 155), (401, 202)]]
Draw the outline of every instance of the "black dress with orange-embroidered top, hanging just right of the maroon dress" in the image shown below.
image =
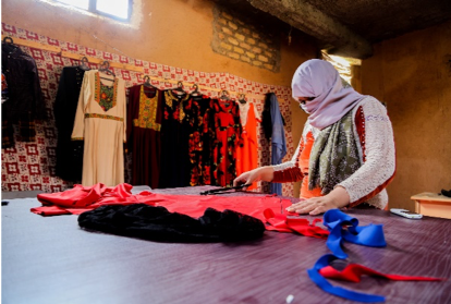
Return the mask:
[(188, 185), (190, 155), (188, 136), (191, 117), (185, 107), (190, 95), (164, 92), (163, 117), (161, 122), (161, 168), (159, 187)]

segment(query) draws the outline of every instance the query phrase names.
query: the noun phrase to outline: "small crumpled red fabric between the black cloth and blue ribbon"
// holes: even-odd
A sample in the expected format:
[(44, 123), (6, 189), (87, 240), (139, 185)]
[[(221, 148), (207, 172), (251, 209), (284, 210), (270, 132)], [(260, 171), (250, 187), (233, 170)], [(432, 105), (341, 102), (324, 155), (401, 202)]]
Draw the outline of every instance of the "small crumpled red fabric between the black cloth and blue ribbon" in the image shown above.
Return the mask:
[[(266, 221), (271, 226), (267, 227), (267, 230), (276, 230), (279, 232), (297, 232), (305, 236), (312, 236), (317, 239), (327, 239), (329, 231), (315, 226), (321, 219), (314, 219), (312, 224), (307, 219), (300, 217), (287, 217), (285, 215), (276, 215), (271, 209), (264, 211)], [(289, 214), (290, 215), (290, 214)], [(295, 215), (295, 214), (293, 214)]]

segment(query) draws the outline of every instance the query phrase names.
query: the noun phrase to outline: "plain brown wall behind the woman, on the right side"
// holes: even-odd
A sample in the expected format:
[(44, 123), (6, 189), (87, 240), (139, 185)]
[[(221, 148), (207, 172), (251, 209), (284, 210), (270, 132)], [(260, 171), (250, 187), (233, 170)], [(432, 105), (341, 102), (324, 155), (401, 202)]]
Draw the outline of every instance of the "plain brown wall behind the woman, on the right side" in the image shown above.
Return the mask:
[(388, 104), (397, 144), (389, 206), (451, 189), (451, 22), (375, 46), (362, 64), (363, 93)]

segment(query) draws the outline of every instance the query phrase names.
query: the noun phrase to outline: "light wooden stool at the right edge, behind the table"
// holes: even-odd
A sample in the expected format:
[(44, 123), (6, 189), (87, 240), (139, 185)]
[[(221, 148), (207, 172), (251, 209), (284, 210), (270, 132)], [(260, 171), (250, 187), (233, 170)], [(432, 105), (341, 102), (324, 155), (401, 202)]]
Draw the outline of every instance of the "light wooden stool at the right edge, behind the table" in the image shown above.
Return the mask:
[(424, 192), (412, 196), (411, 199), (415, 200), (415, 212), (417, 214), (451, 219), (451, 197)]

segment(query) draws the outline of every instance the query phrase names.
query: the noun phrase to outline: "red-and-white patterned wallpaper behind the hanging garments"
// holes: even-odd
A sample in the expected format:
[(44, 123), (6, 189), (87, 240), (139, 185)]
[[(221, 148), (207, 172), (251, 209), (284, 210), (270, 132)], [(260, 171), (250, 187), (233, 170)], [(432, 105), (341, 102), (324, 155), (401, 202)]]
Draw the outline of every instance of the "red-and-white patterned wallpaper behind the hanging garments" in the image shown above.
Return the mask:
[[(134, 71), (114, 69), (118, 77), (125, 81), (125, 86), (130, 87), (143, 83), (144, 75), (150, 75), (161, 78), (161, 81), (151, 81), (151, 84), (161, 88), (171, 88), (175, 85), (164, 82), (163, 80), (182, 81), (186, 87), (196, 83), (200, 86), (207, 86), (216, 89), (228, 89), (229, 92), (244, 93), (248, 95), (261, 95), (261, 97), (248, 96), (246, 99), (253, 102), (258, 112), (261, 113), (264, 106), (264, 94), (273, 92), (278, 96), (282, 115), (287, 121), (285, 137), (288, 145), (287, 159), (290, 159), (294, 153), (293, 139), (291, 133), (291, 89), (283, 86), (272, 86), (268, 84), (256, 83), (244, 80), (229, 73), (206, 73), (182, 68), (169, 66), (155, 62), (142, 61), (138, 59), (127, 58), (110, 52), (105, 52), (84, 46), (56, 40), (50, 37), (41, 36), (26, 29), (1, 23), (1, 34), (12, 38), (22, 38), (37, 41), (45, 45), (57, 46), (64, 51), (78, 53), (81, 56), (100, 58), (110, 62), (120, 62), (142, 66), (144, 73)], [(63, 58), (58, 52), (46, 51), (37, 48), (22, 47), (31, 54), (37, 64), (40, 85), (42, 88), (49, 120), (38, 123), (36, 126), (37, 136), (35, 143), (16, 142), (15, 147), (1, 150), (1, 191), (31, 191), (41, 190), (45, 192), (59, 192), (72, 186), (71, 183), (63, 181), (54, 175), (56, 166), (56, 147), (57, 132), (53, 118), (53, 102), (57, 95), (58, 82), (63, 66), (78, 65), (77, 60)], [(97, 69), (97, 64), (89, 63), (92, 69)], [(218, 92), (202, 89), (210, 97), (219, 95)], [(233, 96), (232, 97), (236, 97)], [(258, 155), (259, 165), (270, 163), (270, 145), (266, 141), (263, 130), (257, 125)], [(17, 134), (17, 132), (15, 132)], [(130, 159), (126, 160), (125, 168), (130, 168)], [(130, 177), (130, 169), (126, 169), (125, 181)], [(263, 185), (263, 191), (268, 191), (268, 185)], [(259, 189), (261, 190), (261, 189)], [(293, 195), (293, 184), (283, 185), (283, 195)]]

